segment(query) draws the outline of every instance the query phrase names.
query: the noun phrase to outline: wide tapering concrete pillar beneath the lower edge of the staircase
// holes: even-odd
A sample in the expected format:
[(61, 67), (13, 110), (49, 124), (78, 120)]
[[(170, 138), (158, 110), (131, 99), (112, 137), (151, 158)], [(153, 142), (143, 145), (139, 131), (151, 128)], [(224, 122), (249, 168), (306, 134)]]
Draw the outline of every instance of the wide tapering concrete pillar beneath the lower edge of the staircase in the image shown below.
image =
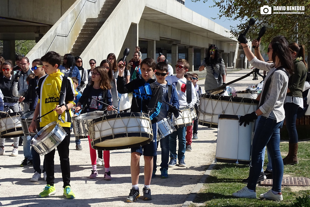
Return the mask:
[(128, 47), (130, 49), (130, 53), (126, 60), (129, 62), (135, 52), (135, 47), (137, 46), (139, 46), (139, 24), (131, 23), (117, 60), (123, 57), (123, 52), (125, 48)]

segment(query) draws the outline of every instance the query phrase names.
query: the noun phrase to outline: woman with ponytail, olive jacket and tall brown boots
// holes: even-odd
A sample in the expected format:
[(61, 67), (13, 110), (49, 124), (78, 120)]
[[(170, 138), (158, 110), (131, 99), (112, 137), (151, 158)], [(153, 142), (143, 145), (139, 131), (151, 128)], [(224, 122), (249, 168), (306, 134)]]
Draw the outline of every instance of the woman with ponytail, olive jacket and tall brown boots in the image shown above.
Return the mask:
[(297, 110), (303, 108), (303, 86), (307, 77), (305, 47), (297, 43), (289, 45), (294, 63), (294, 73), (289, 78), (286, 98), (284, 101), (286, 129), (289, 133), (289, 153), (283, 158), (283, 164), (297, 164), (298, 134), (296, 130)]

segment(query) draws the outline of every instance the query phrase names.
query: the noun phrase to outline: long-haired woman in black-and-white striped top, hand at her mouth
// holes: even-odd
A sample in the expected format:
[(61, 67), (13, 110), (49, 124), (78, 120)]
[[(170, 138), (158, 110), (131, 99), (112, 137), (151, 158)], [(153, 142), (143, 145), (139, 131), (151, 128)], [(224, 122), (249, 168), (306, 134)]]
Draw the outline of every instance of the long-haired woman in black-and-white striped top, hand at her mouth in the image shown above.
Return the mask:
[(210, 45), (207, 56), (202, 60), (199, 71), (206, 70), (205, 91), (210, 91), (226, 81), (226, 68), (223, 58), (219, 56), (216, 45)]

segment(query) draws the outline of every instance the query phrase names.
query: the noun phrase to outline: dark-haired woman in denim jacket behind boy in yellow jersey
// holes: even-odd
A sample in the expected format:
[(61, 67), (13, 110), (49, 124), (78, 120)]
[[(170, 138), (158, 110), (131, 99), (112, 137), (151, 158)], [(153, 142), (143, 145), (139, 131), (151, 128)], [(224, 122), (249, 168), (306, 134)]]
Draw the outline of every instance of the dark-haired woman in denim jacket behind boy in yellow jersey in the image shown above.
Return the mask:
[[(70, 74), (72, 68), (72, 74)], [(68, 77), (77, 77), (78, 78), (78, 84), (81, 83), (81, 75), (78, 70), (78, 67), (75, 66), (75, 59), (71, 54), (65, 54), (64, 55), (64, 63), (58, 67), (60, 72), (62, 72), (65, 76)]]

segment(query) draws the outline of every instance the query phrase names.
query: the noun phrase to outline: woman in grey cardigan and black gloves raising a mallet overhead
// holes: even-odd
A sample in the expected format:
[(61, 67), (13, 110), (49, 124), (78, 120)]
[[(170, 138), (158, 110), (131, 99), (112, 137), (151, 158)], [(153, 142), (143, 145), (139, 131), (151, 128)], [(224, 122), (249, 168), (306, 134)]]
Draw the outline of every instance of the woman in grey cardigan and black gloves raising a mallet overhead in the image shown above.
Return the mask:
[(272, 161), (273, 184), (272, 189), (260, 194), (259, 197), (278, 201), (283, 200), (281, 193), (283, 162), (280, 153), (280, 128), (285, 117), (283, 103), (288, 87), (288, 75), (293, 72), (293, 61), (290, 56), (288, 42), (283, 36), (272, 38), (267, 54), (269, 60), (272, 60), (273, 63), (267, 63), (258, 60), (254, 56), (243, 34), (238, 37), (238, 41), (241, 43), (250, 64), (255, 68), (268, 71), (268, 75), (263, 84), (259, 109), (240, 117), (240, 125), (244, 123), (244, 126), (246, 126), (246, 124), (249, 124), (257, 119), (257, 116), (261, 115), (252, 143), (252, 162), (248, 184), (240, 191), (233, 193), (232, 196), (256, 198), (256, 182), (263, 162), (261, 155), (263, 148), (267, 145)]

